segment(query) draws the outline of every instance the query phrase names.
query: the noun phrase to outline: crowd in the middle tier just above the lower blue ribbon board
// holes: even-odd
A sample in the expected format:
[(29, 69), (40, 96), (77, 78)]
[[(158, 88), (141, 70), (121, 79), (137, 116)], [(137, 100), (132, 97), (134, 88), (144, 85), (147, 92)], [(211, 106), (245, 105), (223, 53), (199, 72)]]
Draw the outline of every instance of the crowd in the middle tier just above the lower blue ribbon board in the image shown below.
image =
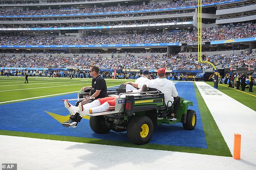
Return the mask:
[[(7, 38), (8, 37), (8, 38)], [(220, 28), (203, 28), (202, 41), (217, 41), (228, 39), (242, 39), (256, 37), (256, 23), (243, 25), (224, 25)], [(1, 45), (94, 45), (99, 44), (142, 44), (142, 43), (171, 43), (171, 42), (197, 42), (197, 30), (189, 32), (144, 32), (121, 33), (108, 37), (106, 34), (91, 34), (80, 39), (59, 38), (57, 36), (0, 36)]]

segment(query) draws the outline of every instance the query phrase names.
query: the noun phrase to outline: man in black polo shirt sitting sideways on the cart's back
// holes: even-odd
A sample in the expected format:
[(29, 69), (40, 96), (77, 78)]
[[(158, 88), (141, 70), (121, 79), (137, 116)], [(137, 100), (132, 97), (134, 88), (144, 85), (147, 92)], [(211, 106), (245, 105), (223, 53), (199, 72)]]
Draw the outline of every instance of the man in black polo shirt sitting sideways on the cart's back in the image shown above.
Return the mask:
[[(82, 91), (85, 91), (87, 88), (92, 89), (91, 90), (91, 98), (95, 97), (95, 99), (98, 98), (104, 98), (107, 97), (107, 84), (105, 79), (99, 74), (99, 67), (98, 66), (91, 66), (90, 67), (90, 76), (93, 77), (92, 79), (92, 85), (88, 87), (83, 87), (81, 88)], [(80, 100), (76, 103), (76, 106), (82, 102), (84, 104), (86, 100)], [(68, 121), (65, 121), (62, 123), (63, 126), (65, 127), (77, 127), (78, 122), (80, 122), (82, 117), (80, 117), (79, 112), (76, 113), (75, 115), (71, 115), (69, 117)]]

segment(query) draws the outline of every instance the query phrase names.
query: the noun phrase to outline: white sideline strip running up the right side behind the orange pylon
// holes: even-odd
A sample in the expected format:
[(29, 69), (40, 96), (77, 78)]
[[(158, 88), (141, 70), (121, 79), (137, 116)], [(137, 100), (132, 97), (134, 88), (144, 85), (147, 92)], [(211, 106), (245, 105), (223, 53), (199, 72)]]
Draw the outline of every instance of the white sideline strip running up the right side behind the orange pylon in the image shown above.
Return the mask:
[(234, 133), (240, 133), (241, 158), (256, 164), (256, 112), (204, 82), (196, 82), (196, 85), (231, 154), (234, 149)]

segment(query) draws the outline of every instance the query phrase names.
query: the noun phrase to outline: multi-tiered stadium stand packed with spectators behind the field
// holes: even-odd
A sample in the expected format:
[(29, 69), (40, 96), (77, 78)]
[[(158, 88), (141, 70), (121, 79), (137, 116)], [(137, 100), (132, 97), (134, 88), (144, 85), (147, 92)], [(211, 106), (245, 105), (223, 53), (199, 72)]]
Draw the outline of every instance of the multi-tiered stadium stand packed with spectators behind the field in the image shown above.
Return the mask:
[[(197, 0), (49, 2), (0, 2), (0, 67), (211, 68), (198, 63)], [(255, 3), (202, 1), (205, 61), (255, 67)]]

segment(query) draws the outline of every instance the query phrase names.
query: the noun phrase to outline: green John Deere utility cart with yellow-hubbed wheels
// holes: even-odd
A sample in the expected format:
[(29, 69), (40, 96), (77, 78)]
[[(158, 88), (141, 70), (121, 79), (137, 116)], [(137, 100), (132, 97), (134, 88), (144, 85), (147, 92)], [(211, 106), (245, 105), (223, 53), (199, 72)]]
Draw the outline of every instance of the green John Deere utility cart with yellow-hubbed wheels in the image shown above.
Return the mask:
[(196, 125), (196, 113), (188, 110), (193, 102), (180, 98), (176, 121), (170, 120), (164, 100), (164, 93), (155, 91), (140, 96), (126, 94), (117, 98), (113, 113), (100, 113), (90, 117), (90, 127), (95, 133), (108, 133), (110, 130), (127, 131), (128, 139), (134, 144), (143, 145), (150, 141), (153, 127), (161, 124), (183, 123), (184, 129), (193, 130)]

